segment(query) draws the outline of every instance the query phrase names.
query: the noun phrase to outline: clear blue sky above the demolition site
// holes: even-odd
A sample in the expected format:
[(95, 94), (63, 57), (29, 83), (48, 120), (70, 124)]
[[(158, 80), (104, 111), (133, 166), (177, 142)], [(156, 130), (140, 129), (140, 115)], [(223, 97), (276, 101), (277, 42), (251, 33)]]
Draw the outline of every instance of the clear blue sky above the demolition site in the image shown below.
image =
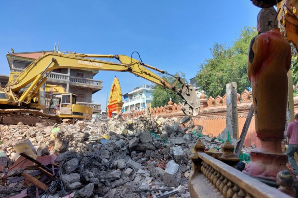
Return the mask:
[[(215, 4), (216, 3), (216, 4)], [(0, 1), (0, 74), (15, 52), (53, 50), (86, 54), (138, 51), (143, 62), (169, 73), (196, 75), (215, 42), (231, 44), (244, 26), (255, 26), (260, 8), (250, 0), (229, 1)], [(134, 57), (136, 58), (136, 57)], [(93, 94), (105, 109), (114, 76), (122, 93), (149, 83), (126, 72), (100, 71), (104, 88)]]

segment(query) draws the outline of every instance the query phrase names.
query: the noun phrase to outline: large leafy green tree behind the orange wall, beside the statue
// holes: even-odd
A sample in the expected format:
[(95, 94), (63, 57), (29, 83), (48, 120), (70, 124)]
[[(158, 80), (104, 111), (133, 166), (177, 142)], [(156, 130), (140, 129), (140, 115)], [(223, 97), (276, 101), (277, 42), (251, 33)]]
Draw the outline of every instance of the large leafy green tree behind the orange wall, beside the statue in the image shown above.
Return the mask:
[(251, 84), (247, 77), (247, 50), (256, 28), (244, 27), (232, 46), (215, 43), (210, 49), (212, 58), (199, 66), (197, 82), (207, 95), (223, 96), (225, 84), (237, 82), (237, 90), (242, 92)]

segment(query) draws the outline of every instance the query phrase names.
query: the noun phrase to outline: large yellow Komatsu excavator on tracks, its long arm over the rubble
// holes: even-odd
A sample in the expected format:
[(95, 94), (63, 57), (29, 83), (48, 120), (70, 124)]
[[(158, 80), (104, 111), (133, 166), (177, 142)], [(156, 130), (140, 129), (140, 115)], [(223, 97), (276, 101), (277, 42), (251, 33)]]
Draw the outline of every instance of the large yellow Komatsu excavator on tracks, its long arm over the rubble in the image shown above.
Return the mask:
[[(97, 58), (115, 58), (119, 62), (100, 60)], [(139, 60), (125, 55), (79, 54), (75, 52), (53, 52), (45, 54), (32, 62), (22, 72), (15, 74), (4, 89), (0, 88), (0, 123), (35, 124), (37, 122), (60, 122), (57, 115), (45, 114), (44, 110), (45, 82), (51, 71), (60, 68), (97, 70), (97, 71), (127, 71), (178, 94), (183, 99), (182, 111), (186, 115), (197, 115), (200, 102), (193, 86), (185, 83), (179, 76), (152, 67)], [(173, 83), (167, 82), (149, 69), (175, 77)], [(180, 88), (176, 86), (181, 84)], [(54, 104), (54, 103), (53, 103)], [(59, 111), (64, 115), (76, 114), (75, 100), (71, 97), (60, 98)], [(82, 112), (78, 112), (82, 113)], [(60, 115), (61, 116), (61, 115)]]

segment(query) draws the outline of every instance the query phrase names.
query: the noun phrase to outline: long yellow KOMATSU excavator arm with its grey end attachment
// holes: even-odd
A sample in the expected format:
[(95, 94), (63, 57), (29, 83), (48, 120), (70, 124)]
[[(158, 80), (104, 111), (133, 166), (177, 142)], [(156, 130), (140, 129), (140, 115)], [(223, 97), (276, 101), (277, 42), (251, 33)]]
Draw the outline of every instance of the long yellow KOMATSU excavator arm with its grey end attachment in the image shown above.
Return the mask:
[[(94, 58), (116, 58), (119, 62), (110, 62)], [(26, 67), (19, 75), (11, 80), (5, 87), (7, 94), (13, 92), (17, 93), (21, 88), (32, 83), (29, 88), (25, 90), (22, 96), (18, 99), (18, 104), (22, 102), (29, 103), (31, 98), (36, 94), (41, 83), (45, 82), (47, 76), (54, 69), (70, 68), (81, 70), (103, 70), (103, 71), (127, 71), (158, 84), (164, 88), (170, 89), (177, 93), (184, 99), (182, 110), (186, 114), (197, 114), (199, 108), (199, 100), (196, 96), (194, 88), (185, 84), (179, 76), (173, 84), (163, 80), (160, 76), (156, 75), (147, 68), (166, 73), (155, 67), (149, 66), (139, 60), (125, 56), (125, 55), (99, 55), (99, 54), (78, 54), (73, 52), (61, 52), (45, 54), (32, 62)], [(175, 85), (179, 82), (182, 88), (177, 88)], [(184, 108), (184, 109), (183, 109)], [(190, 109), (190, 111), (189, 111)], [(193, 113), (191, 112), (193, 111)], [(187, 113), (188, 112), (188, 113)]]

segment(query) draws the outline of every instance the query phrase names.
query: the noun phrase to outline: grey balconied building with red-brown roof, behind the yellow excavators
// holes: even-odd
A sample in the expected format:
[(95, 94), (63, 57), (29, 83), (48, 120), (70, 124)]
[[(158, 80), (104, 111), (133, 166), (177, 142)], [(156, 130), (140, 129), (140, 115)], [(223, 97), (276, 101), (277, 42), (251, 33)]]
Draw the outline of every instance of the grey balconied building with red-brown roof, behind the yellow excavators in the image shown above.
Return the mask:
[[(54, 51), (8, 53), (7, 61), (11, 71), (23, 71), (31, 62)], [(48, 76), (46, 84), (62, 85), (67, 92), (77, 95), (77, 103), (90, 106), (93, 113), (101, 111), (101, 105), (92, 103), (92, 94), (102, 89), (102, 81), (94, 80), (98, 71), (77, 69), (55, 69)], [(46, 98), (46, 103), (50, 98)]]

